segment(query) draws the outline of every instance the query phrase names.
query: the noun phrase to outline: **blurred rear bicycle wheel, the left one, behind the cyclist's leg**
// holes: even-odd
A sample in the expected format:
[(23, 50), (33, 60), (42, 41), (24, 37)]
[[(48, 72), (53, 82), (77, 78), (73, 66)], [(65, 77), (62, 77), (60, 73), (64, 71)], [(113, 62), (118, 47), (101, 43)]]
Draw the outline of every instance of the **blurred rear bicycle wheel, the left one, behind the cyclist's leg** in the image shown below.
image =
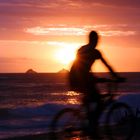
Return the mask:
[(51, 139), (53, 140), (82, 140), (82, 118), (80, 111), (66, 108), (60, 111), (51, 123)]

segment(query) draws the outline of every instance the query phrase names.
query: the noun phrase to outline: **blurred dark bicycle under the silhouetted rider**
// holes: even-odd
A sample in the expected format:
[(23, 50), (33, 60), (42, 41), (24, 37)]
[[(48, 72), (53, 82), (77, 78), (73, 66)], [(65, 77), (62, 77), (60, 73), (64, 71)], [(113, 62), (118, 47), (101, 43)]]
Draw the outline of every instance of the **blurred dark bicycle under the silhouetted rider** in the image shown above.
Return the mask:
[[(135, 116), (129, 105), (118, 102), (109, 82), (108, 92), (103, 96), (103, 109), (98, 118), (98, 135), (104, 140), (130, 140), (135, 132)], [(116, 86), (115, 86), (116, 87)], [(113, 88), (114, 89), (114, 88)], [(95, 105), (93, 105), (93, 113)], [(88, 115), (83, 104), (79, 109), (64, 108), (52, 119), (50, 125), (53, 140), (90, 140)]]

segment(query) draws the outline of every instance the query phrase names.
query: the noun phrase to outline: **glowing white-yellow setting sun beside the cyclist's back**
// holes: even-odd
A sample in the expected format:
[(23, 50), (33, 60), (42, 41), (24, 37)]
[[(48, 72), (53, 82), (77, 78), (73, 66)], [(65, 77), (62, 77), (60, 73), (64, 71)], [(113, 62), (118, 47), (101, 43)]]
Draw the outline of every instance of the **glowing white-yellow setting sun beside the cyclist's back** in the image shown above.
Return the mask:
[(62, 47), (55, 54), (55, 59), (64, 64), (70, 64), (76, 57), (76, 50), (73, 47)]

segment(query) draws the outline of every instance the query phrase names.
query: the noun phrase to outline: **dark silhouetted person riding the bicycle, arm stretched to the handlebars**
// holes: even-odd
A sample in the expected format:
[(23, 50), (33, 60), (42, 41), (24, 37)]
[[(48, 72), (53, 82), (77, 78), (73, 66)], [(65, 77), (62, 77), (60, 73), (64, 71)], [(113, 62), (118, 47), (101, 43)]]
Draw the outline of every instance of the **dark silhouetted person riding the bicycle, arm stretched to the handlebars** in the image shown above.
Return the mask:
[[(96, 49), (99, 36), (96, 31), (91, 31), (89, 34), (89, 43), (82, 46), (77, 51), (77, 56), (72, 64), (69, 73), (69, 83), (71, 90), (84, 93), (83, 104), (87, 107), (89, 124), (91, 125), (90, 133), (96, 135), (96, 127), (98, 125), (97, 118), (101, 112), (101, 94), (97, 89), (97, 82), (105, 82), (104, 78), (97, 78), (91, 72), (95, 60), (101, 60), (108, 68), (111, 75), (115, 79), (121, 79), (113, 68), (107, 63), (103, 55)], [(95, 113), (90, 112), (89, 104), (91, 102), (97, 103)]]

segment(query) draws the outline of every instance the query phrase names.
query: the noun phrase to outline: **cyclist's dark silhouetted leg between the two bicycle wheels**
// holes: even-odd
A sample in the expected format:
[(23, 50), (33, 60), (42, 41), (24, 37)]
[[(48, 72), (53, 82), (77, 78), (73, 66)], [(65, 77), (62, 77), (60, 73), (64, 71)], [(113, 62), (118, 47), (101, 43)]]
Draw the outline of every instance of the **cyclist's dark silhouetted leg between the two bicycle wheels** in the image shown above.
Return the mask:
[(96, 84), (94, 79), (89, 78), (88, 84), (86, 85), (86, 110), (87, 110), (87, 118), (89, 121), (89, 135), (91, 138), (98, 139), (98, 119), (102, 112), (102, 104), (100, 98), (100, 92), (96, 88)]

